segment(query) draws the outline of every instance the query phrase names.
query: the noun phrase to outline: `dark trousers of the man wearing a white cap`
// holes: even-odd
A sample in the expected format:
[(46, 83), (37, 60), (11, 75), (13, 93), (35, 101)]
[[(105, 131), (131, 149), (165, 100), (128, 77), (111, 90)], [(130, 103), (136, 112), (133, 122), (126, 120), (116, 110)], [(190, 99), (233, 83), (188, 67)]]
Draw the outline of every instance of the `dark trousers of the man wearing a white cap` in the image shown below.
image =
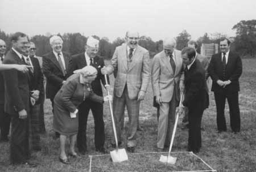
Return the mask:
[(105, 124), (103, 121), (103, 105), (92, 100), (85, 100), (79, 106), (79, 131), (77, 134), (77, 148), (86, 151), (86, 126), (89, 111), (92, 110), (94, 118), (94, 145), (96, 149), (104, 147)]

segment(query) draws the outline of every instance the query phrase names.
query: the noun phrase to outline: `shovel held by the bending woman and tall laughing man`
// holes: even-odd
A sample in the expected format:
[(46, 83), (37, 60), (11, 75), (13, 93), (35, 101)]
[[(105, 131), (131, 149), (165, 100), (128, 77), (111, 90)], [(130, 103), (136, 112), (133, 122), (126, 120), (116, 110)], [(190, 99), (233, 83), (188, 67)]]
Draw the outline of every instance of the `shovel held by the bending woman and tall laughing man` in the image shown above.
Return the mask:
[[(108, 79), (105, 75), (105, 81), (106, 85), (108, 85)], [(107, 93), (109, 96), (109, 91), (107, 89)], [(113, 162), (122, 162), (128, 160), (127, 153), (125, 149), (118, 149), (118, 141), (117, 141), (117, 131), (115, 130), (115, 121), (114, 121), (114, 115), (113, 115), (113, 109), (112, 109), (112, 103), (111, 100), (109, 100), (109, 108), (110, 108), (110, 114), (111, 114), (111, 119), (112, 119), (112, 124), (113, 124), (113, 130), (114, 130), (114, 137), (115, 137), (115, 150), (110, 151), (110, 156), (112, 158)]]

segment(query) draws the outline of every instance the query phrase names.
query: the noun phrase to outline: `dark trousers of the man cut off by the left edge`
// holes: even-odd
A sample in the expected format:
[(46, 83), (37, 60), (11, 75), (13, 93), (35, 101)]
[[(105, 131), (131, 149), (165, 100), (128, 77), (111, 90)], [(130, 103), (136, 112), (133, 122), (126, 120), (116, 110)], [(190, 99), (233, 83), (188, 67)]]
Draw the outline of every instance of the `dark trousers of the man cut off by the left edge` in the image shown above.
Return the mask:
[(3, 110), (3, 104), (0, 104), (0, 131), (1, 139), (7, 138), (10, 131), (11, 115), (5, 113)]

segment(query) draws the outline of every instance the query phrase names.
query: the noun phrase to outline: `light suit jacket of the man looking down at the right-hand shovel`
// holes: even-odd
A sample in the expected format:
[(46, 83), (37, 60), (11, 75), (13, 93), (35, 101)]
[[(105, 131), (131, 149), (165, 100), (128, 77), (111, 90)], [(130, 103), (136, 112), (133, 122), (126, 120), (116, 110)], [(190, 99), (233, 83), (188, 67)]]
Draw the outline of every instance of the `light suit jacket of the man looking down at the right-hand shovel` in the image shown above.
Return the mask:
[[(152, 61), (152, 89), (154, 96), (161, 96), (163, 102), (170, 102), (173, 93), (176, 94), (177, 101), (179, 101), (179, 84), (180, 79), (184, 80), (184, 74), (181, 75), (183, 62), (181, 59), (181, 52), (174, 50), (175, 71), (172, 70), (170, 57), (161, 51), (156, 54)], [(181, 77), (182, 76), (182, 77)], [(175, 87), (174, 87), (175, 86)]]

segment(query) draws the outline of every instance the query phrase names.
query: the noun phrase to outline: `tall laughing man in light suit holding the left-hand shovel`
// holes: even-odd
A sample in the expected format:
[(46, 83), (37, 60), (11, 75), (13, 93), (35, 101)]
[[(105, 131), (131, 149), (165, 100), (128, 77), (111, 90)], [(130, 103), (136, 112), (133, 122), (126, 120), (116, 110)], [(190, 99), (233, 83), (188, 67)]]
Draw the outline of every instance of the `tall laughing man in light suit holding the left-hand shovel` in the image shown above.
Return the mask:
[[(126, 44), (115, 49), (111, 64), (102, 68), (102, 74), (117, 70), (114, 83), (113, 113), (117, 127), (118, 144), (121, 144), (121, 120), (125, 105), (129, 116), (127, 151), (134, 152), (138, 127), (139, 104), (144, 99), (150, 81), (148, 51), (138, 45), (139, 33), (126, 32)], [(113, 144), (114, 146), (114, 144)]]

